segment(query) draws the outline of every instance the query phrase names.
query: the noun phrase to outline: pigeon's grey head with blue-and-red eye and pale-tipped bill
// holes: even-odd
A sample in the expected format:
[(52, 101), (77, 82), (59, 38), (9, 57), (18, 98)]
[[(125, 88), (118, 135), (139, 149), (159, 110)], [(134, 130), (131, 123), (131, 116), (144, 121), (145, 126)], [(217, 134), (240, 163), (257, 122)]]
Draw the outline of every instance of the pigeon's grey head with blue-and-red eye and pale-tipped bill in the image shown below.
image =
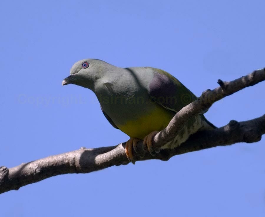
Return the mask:
[(74, 84), (93, 90), (95, 82), (113, 67), (99, 59), (82, 59), (72, 66), (70, 75), (62, 81), (62, 85)]

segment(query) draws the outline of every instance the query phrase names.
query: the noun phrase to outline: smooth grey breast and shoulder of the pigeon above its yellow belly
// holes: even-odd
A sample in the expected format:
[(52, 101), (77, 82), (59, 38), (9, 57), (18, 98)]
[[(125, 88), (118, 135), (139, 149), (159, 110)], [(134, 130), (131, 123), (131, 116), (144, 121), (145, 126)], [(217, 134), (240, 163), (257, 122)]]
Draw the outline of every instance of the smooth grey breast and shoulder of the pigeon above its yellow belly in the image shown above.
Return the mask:
[(141, 116), (154, 107), (148, 94), (151, 71), (127, 68), (111, 79), (103, 78), (95, 91), (102, 110), (116, 125)]

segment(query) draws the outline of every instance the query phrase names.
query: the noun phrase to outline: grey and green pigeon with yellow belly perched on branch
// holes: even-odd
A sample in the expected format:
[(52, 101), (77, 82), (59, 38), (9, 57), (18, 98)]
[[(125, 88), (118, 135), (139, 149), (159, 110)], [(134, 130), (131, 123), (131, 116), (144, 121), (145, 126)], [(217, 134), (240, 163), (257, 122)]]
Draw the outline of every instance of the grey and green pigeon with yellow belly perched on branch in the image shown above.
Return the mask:
[[(72, 66), (62, 85), (92, 90), (110, 124), (126, 133), (127, 158), (135, 164), (132, 148), (143, 140), (143, 149), (154, 155), (152, 138), (174, 115), (197, 97), (173, 75), (153, 67), (116, 67), (100, 59), (82, 59)], [(216, 128), (203, 114), (191, 117), (175, 138), (162, 146), (173, 149), (199, 130)]]

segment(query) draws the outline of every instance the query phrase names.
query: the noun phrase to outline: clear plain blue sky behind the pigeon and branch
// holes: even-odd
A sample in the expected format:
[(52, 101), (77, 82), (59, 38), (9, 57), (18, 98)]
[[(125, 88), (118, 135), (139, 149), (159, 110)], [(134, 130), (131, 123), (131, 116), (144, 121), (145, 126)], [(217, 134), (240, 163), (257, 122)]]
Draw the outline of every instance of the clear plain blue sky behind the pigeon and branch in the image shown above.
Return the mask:
[[(2, 1), (0, 165), (116, 145), (92, 91), (61, 86), (74, 62), (151, 66), (197, 96), (265, 67), (264, 1)], [(265, 83), (216, 102), (216, 126), (264, 114)], [(89, 174), (0, 196), (3, 216), (264, 216), (265, 140)]]

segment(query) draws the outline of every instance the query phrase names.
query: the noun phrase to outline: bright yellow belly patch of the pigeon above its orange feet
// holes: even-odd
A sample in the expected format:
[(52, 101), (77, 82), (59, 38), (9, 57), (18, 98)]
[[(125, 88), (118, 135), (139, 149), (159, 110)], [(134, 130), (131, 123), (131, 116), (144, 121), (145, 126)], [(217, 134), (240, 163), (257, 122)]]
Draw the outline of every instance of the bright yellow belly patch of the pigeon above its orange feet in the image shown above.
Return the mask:
[(135, 117), (135, 120), (127, 121), (125, 125), (118, 125), (117, 127), (130, 137), (144, 139), (150, 132), (163, 130), (173, 116), (173, 112), (157, 105), (155, 109), (148, 114)]

